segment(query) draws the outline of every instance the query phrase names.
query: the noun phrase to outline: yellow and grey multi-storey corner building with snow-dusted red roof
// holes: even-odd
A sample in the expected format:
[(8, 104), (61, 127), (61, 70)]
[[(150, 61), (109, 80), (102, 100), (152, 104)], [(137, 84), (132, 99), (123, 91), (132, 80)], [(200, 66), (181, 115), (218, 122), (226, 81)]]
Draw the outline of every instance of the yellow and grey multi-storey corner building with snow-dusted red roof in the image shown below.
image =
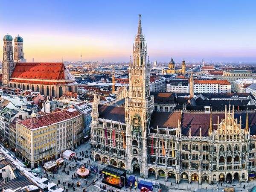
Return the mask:
[(76, 109), (49, 113), (16, 122), (17, 154), (31, 168), (76, 148), (82, 139), (83, 115)]

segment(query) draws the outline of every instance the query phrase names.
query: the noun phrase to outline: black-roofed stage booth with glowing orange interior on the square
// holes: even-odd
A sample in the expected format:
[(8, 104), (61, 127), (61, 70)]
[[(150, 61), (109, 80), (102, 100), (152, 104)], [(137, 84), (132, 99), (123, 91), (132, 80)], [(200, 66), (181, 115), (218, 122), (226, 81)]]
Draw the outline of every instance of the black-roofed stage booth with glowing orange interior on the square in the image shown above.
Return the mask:
[(111, 165), (102, 169), (102, 183), (106, 183), (118, 189), (124, 186), (126, 181), (126, 170)]

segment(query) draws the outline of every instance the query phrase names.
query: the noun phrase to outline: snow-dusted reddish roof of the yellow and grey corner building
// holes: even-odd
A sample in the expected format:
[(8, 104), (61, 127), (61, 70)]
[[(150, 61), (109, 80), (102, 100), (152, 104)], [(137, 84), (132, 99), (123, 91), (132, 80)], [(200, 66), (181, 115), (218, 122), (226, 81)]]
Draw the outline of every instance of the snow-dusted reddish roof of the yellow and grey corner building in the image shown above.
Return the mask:
[(74, 110), (72, 112), (65, 110), (56, 113), (49, 113), (39, 117), (31, 117), (29, 119), (19, 121), (19, 123), (29, 129), (36, 129), (43, 126), (49, 126), (60, 121), (71, 119), (79, 115), (81, 115), (81, 113), (77, 110)]

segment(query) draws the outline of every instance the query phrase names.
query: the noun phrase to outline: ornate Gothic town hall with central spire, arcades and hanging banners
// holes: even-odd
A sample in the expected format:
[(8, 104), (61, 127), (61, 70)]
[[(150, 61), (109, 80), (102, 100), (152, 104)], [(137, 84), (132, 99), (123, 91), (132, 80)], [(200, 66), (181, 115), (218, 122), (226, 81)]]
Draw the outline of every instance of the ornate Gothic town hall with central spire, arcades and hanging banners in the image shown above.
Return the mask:
[(124, 107), (99, 105), (99, 96), (94, 95), (90, 139), (94, 160), (176, 183), (255, 177), (255, 111), (234, 105), (224, 105), (220, 111), (170, 110), (171, 93), (159, 93), (167, 108), (156, 110), (159, 104), (150, 94), (146, 54), (139, 20)]

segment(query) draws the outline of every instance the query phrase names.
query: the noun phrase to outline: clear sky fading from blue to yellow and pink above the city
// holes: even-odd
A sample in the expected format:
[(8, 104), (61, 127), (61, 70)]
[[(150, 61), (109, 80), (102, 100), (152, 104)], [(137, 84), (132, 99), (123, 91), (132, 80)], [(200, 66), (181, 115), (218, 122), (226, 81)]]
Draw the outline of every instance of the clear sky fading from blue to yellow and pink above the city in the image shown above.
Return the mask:
[[(2, 3), (6, 4), (6, 3)], [(17, 1), (0, 12), (3, 36), (20, 35), (25, 58), (129, 61), (141, 14), (150, 61), (256, 62), (256, 1)], [(13, 44), (14, 45), (14, 44)]]

